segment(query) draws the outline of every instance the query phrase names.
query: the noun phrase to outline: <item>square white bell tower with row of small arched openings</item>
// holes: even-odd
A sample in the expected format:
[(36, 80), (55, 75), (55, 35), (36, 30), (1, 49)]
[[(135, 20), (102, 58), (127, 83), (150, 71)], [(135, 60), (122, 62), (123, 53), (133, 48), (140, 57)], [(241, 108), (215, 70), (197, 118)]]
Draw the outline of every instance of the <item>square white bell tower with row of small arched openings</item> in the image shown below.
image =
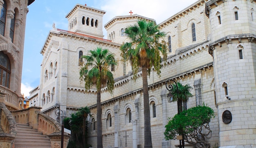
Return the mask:
[(102, 21), (106, 11), (95, 9), (81, 4), (76, 6), (66, 15), (68, 30), (103, 38)]

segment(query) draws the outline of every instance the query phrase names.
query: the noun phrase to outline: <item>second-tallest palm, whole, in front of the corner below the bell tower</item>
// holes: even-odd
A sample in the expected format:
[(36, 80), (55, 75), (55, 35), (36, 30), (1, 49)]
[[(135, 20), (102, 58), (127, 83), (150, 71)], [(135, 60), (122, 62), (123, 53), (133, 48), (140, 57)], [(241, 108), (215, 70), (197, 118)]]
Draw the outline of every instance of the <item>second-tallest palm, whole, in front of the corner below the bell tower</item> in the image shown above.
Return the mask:
[(96, 48), (90, 54), (82, 56), (85, 63), (80, 69), (80, 80), (85, 82), (85, 89), (92, 86), (97, 89), (97, 148), (102, 148), (102, 122), (101, 122), (101, 88), (107, 86), (112, 94), (114, 77), (108, 69), (110, 65), (117, 65), (115, 56), (107, 49)]

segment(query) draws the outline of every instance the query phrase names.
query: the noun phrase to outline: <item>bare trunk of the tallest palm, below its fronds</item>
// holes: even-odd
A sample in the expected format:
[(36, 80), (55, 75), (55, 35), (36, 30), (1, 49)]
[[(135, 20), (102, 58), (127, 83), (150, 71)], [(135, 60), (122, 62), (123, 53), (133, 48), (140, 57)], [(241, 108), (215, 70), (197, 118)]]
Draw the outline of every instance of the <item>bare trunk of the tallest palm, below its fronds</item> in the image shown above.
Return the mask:
[(150, 127), (150, 110), (148, 95), (148, 76), (147, 68), (142, 67), (142, 85), (144, 96), (144, 148), (152, 148), (151, 127)]

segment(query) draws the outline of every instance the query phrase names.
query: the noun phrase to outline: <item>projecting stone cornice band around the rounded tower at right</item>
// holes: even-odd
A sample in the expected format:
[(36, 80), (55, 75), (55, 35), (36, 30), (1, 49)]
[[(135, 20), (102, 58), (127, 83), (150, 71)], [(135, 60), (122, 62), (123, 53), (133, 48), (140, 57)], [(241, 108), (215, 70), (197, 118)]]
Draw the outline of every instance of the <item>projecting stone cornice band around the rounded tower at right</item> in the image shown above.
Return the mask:
[(248, 42), (253, 42), (256, 38), (256, 35), (247, 33), (247, 34), (240, 34), (240, 35), (227, 35), (226, 37), (222, 37), (221, 39), (218, 39), (216, 41), (213, 41), (209, 44), (208, 52), (209, 54), (213, 54), (213, 50), (215, 50), (215, 46), (222, 46), (222, 42), (226, 42), (226, 44), (231, 44), (232, 39), (238, 39), (238, 41), (241, 41), (241, 39), (248, 39)]

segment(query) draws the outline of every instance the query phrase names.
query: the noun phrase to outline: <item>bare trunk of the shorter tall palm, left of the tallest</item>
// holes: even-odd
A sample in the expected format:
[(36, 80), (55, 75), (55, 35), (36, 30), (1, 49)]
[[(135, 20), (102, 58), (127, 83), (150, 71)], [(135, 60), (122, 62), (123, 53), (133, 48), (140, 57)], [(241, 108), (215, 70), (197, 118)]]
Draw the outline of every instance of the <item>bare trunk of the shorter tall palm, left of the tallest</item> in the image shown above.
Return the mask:
[(97, 90), (97, 148), (103, 148), (101, 112), (101, 91)]

